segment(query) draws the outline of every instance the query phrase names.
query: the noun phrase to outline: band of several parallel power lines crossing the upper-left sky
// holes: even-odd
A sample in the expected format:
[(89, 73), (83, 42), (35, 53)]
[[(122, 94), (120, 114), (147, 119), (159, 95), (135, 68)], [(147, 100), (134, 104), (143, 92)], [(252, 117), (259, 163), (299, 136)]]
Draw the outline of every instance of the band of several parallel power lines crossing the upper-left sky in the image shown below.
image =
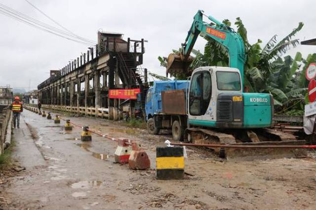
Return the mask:
[[(73, 35), (70, 32), (67, 32), (65, 30), (60, 30), (56, 27), (47, 25), (39, 20), (36, 20), (32, 17), (29, 17), (29, 16), (27, 16), (21, 12), (18, 12), (18, 11), (14, 10), (14, 9), (4, 5), (4, 4), (1, 4), (1, 3), (0, 3), (0, 13), (4, 14), (10, 18), (13, 18), (15, 20), (18, 20), (22, 23), (28, 24), (32, 27), (35, 27), (37, 29), (40, 29), (40, 30), (43, 30), (43, 31), (46, 31), (49, 33), (53, 33), (53, 34), (58, 35), (60, 37), (63, 37), (63, 38), (66, 38), (66, 39), (69, 39), (72, 41), (76, 41), (78, 43), (85, 44), (87, 46), (90, 46), (92, 44), (92, 41), (86, 41), (86, 39), (84, 39), (84, 38), (78, 38), (77, 35)], [(93, 42), (93, 44), (95, 44), (95, 42)]]

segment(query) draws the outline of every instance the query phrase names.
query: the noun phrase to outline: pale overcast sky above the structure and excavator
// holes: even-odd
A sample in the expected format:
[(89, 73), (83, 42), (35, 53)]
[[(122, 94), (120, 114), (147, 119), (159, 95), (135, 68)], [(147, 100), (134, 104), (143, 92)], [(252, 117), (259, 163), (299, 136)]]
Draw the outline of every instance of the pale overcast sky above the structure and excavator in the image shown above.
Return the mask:
[[(298, 22), (304, 22), (296, 38), (316, 38), (314, 0), (29, 0), (67, 29), (97, 40), (97, 31), (124, 33), (124, 39), (144, 38), (144, 68), (165, 75), (158, 56), (178, 49), (198, 9), (218, 20), (231, 22), (240, 17), (248, 30), (250, 43), (258, 38), (265, 44), (274, 34), (280, 40)], [(0, 0), (19, 12), (49, 25), (52, 21), (25, 0)], [(56, 26), (56, 25), (54, 25)], [(203, 51), (199, 37), (196, 49)], [(60, 69), (69, 60), (86, 52), (87, 46), (32, 28), (0, 14), (0, 86), (36, 89), (48, 78), (50, 69)], [(303, 56), (316, 52), (316, 46), (298, 46)]]

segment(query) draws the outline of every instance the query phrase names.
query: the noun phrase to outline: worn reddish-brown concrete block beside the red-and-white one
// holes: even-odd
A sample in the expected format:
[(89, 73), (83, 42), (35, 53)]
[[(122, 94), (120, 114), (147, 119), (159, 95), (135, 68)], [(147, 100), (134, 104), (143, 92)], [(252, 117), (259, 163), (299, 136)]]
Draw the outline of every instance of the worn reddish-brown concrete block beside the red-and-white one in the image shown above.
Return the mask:
[(141, 149), (137, 142), (132, 142), (132, 151), (128, 158), (128, 166), (133, 170), (145, 170), (150, 168), (150, 159), (146, 151)]

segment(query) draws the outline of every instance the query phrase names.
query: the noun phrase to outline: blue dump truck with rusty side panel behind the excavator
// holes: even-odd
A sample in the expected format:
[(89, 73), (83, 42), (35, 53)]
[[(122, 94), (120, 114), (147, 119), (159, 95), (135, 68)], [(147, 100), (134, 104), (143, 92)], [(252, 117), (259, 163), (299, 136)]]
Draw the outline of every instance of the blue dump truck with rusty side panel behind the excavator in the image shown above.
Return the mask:
[[(187, 80), (155, 81), (149, 88), (145, 111), (150, 134), (158, 134), (160, 129), (172, 128), (173, 139), (182, 140), (184, 129), (187, 127), (186, 95), (189, 84)], [(168, 98), (169, 94), (164, 94), (165, 91), (171, 96), (177, 96)]]

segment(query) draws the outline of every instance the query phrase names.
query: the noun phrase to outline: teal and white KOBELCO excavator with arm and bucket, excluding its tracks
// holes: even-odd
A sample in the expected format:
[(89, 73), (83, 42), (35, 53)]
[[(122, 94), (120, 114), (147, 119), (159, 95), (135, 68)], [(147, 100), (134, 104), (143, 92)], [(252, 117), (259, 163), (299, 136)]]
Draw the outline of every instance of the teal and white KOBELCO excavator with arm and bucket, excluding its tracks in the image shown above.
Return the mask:
[(215, 128), (270, 127), (272, 95), (243, 92), (246, 58), (242, 38), (212, 16), (207, 18), (213, 25), (203, 22), (203, 16), (203, 11), (198, 10), (180, 55), (168, 56), (167, 73), (188, 71), (193, 60), (190, 53), (199, 35), (208, 36), (227, 48), (229, 67), (203, 66), (193, 71), (188, 95), (189, 125)]

